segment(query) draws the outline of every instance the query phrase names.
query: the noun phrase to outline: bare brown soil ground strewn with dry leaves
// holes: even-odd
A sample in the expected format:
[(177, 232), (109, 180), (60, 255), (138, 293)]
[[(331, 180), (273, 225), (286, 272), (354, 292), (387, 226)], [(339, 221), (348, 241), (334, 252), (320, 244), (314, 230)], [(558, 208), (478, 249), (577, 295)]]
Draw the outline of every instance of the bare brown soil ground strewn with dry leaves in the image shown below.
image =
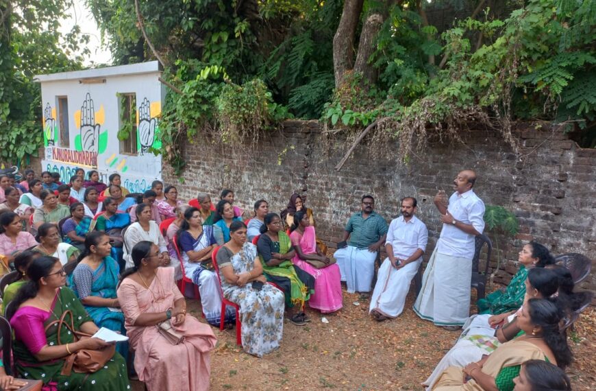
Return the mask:
[[(459, 335), (418, 318), (412, 292), (401, 316), (385, 322), (368, 315), (368, 300), (345, 291), (343, 299), (341, 311), (325, 316), (328, 323), (312, 309), (307, 309), (312, 321), (306, 326), (286, 321), (280, 349), (262, 359), (236, 346), (235, 329), (213, 329), (218, 342), (211, 356), (211, 389), (423, 390), (421, 381)], [(188, 299), (188, 308), (200, 319), (200, 303)], [(573, 390), (596, 389), (595, 331), (596, 308), (591, 307), (569, 333), (575, 362), (567, 372)], [(134, 383), (134, 389), (143, 389)]]

